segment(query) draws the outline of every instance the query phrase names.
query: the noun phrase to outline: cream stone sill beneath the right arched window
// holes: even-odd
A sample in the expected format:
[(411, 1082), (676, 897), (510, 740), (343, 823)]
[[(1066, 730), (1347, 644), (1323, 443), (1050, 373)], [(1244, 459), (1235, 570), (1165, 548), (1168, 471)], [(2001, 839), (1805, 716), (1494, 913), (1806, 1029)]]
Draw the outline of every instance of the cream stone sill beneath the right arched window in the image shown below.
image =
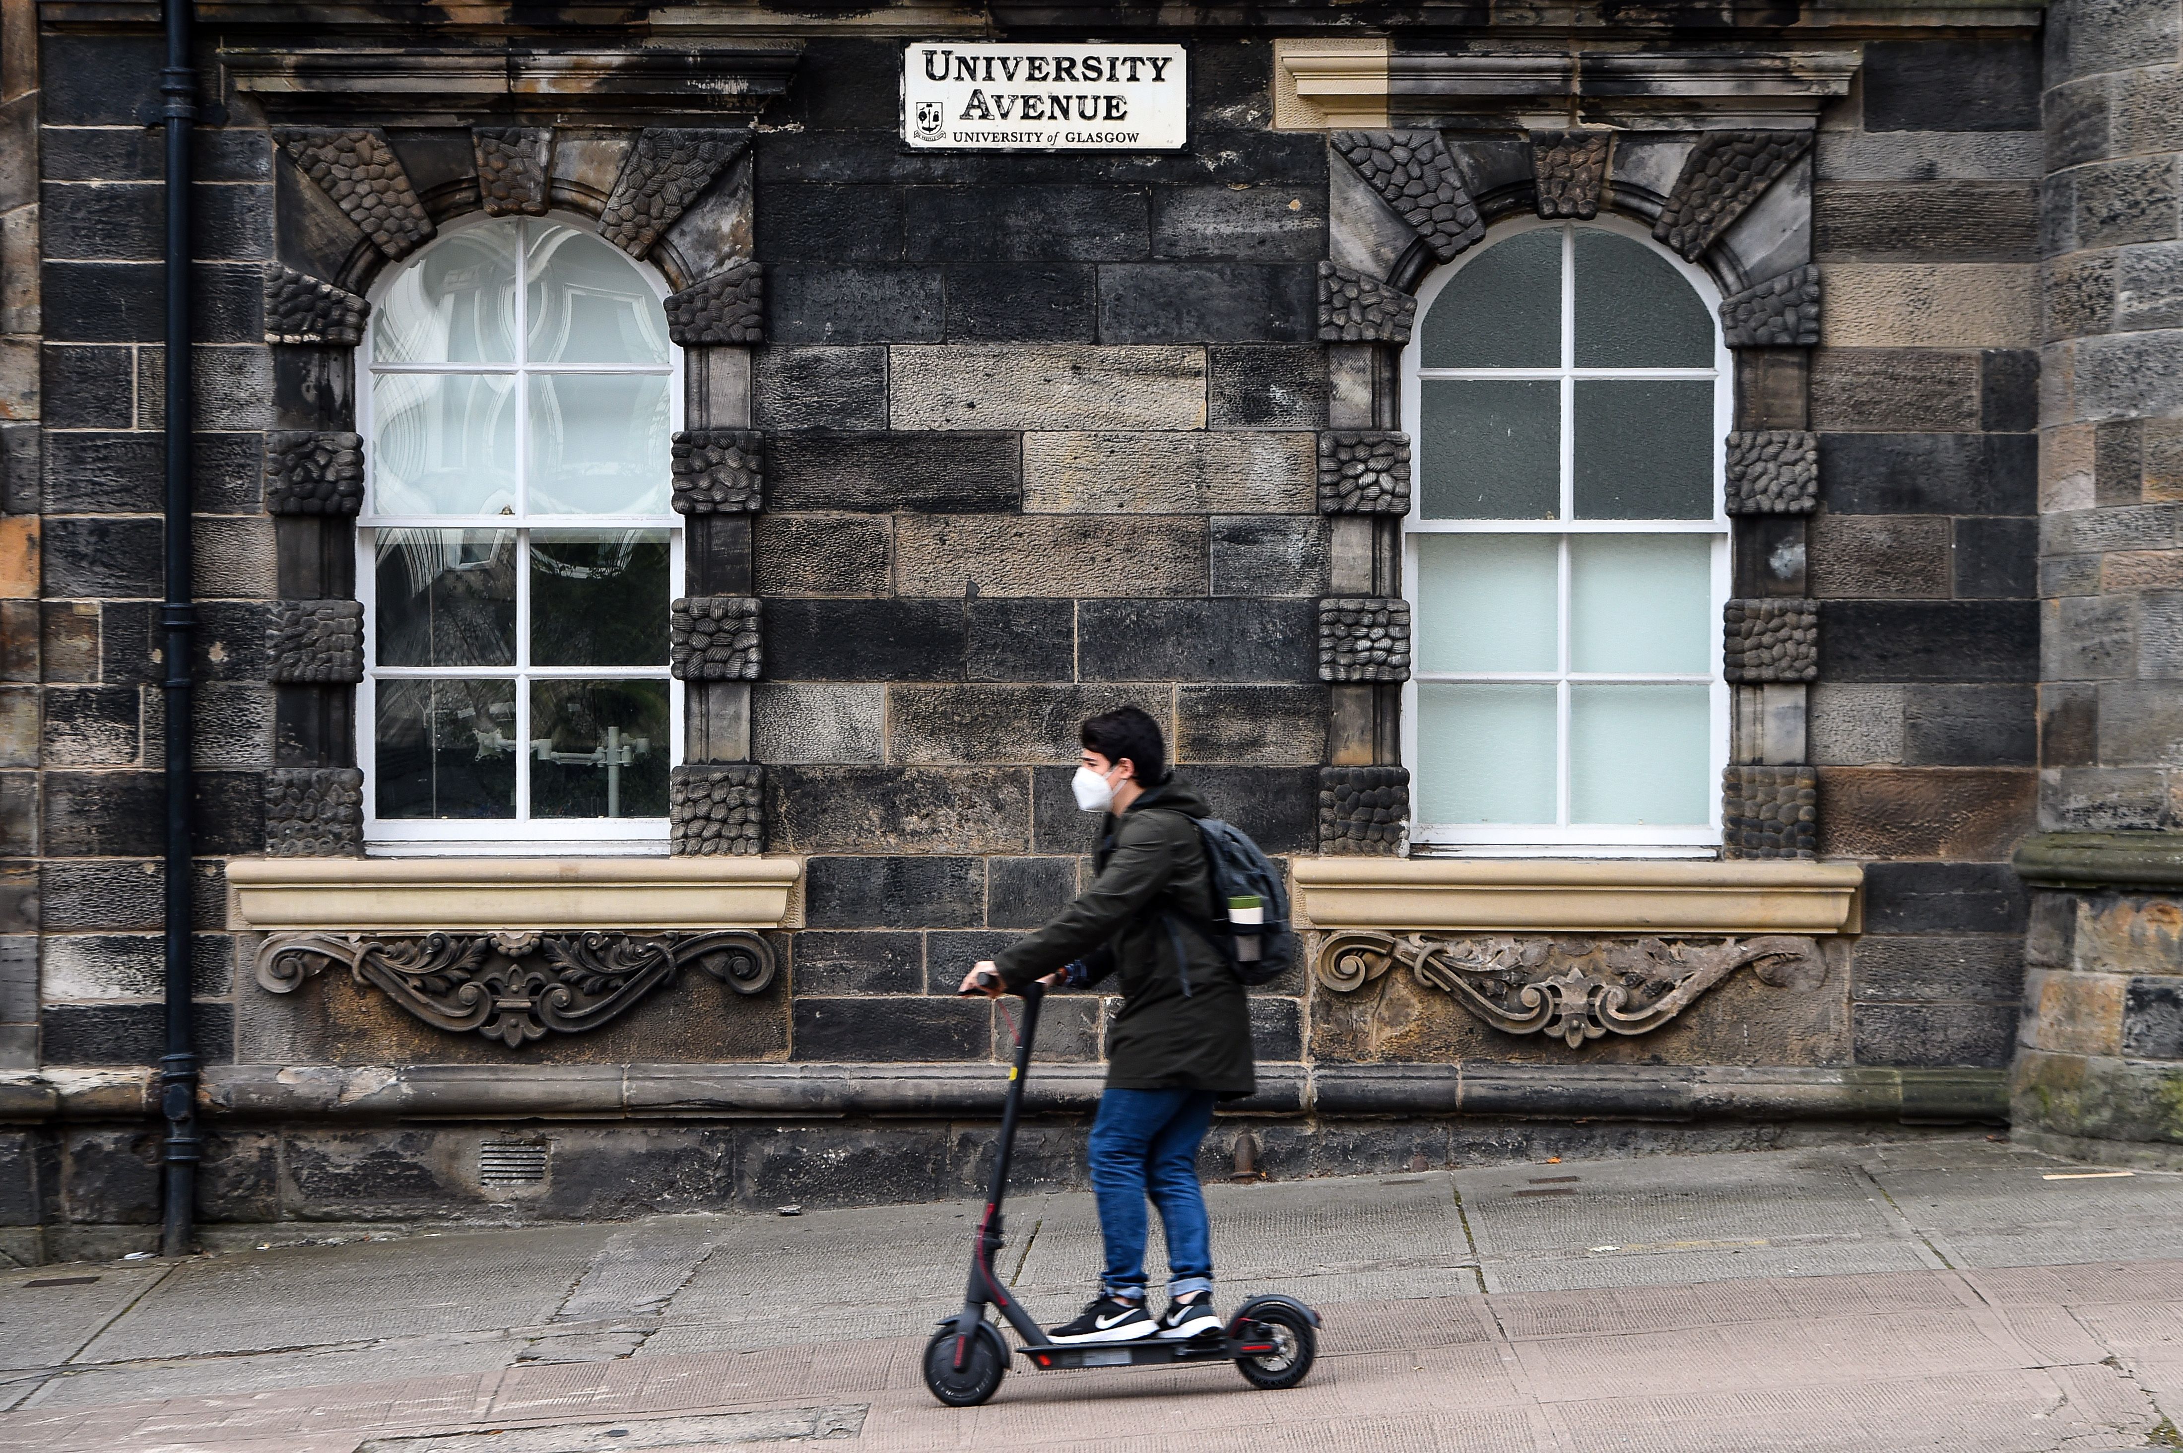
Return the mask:
[(1856, 934), (1853, 862), (1297, 857), (1321, 929)]

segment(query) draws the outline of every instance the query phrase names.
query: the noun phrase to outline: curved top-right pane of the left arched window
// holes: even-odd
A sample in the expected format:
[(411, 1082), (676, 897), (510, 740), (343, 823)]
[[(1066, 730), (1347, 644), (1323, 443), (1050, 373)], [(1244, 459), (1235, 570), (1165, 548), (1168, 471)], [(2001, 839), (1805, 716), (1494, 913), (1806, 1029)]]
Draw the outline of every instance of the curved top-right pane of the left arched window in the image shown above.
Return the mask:
[(530, 362), (668, 360), (668, 316), (629, 257), (589, 231), (530, 223)]

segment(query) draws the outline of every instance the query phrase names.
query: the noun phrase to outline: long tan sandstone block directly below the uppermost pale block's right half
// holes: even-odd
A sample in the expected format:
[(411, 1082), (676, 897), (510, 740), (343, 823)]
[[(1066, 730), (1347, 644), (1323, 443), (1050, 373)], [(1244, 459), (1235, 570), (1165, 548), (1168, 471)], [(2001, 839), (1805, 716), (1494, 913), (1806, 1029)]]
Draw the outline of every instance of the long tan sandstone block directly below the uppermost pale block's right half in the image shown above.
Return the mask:
[(1312, 434), (1024, 434), (1026, 513), (1308, 515)]

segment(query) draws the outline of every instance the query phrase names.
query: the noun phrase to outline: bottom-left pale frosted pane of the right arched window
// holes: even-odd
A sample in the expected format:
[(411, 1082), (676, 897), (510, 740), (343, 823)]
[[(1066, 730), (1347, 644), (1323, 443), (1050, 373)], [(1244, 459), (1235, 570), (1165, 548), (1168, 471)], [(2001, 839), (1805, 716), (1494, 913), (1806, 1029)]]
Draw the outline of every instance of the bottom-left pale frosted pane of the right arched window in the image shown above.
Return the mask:
[(1554, 820), (1554, 687), (1417, 687), (1419, 822)]

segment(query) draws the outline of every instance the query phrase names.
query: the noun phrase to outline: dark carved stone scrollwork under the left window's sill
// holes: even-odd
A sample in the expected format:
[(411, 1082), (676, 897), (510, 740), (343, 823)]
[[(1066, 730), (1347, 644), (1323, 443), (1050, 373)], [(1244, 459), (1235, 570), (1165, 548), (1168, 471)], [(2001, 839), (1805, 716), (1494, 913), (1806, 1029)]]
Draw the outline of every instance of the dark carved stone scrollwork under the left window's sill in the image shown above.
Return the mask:
[(712, 934), (275, 934), (258, 947), (258, 984), (286, 995), (343, 966), (434, 1030), (482, 1034), (509, 1049), (583, 1034), (696, 969), (738, 995), (764, 993), (779, 964), (749, 929)]

